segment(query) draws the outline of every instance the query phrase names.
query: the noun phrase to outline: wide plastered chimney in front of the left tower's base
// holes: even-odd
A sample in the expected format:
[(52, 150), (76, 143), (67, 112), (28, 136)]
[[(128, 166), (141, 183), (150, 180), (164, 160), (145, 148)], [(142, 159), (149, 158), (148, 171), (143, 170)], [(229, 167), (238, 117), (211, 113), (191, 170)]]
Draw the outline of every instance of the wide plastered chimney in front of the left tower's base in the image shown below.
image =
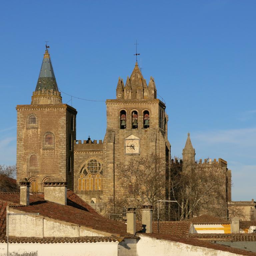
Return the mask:
[(67, 182), (44, 182), (44, 199), (57, 204), (67, 205)]

